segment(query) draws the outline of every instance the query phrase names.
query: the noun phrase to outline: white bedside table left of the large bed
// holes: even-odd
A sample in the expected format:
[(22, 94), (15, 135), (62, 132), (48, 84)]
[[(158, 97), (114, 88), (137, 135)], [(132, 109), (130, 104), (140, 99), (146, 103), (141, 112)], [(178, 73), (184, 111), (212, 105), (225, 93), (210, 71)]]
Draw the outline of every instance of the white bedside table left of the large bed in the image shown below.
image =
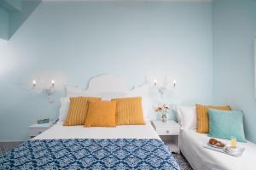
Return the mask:
[(34, 138), (35, 136), (38, 136), (38, 134), (43, 133), (45, 130), (49, 129), (54, 123), (48, 122), (48, 123), (42, 123), (42, 124), (33, 124), (28, 127), (28, 133), (30, 138)]

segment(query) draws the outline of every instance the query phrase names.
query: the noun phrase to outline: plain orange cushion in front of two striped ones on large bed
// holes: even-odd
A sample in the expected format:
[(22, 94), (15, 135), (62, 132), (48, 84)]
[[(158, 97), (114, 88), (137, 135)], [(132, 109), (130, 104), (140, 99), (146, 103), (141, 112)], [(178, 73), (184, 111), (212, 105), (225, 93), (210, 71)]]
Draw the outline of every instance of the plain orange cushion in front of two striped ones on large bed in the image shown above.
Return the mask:
[(89, 102), (84, 127), (115, 127), (115, 101)]

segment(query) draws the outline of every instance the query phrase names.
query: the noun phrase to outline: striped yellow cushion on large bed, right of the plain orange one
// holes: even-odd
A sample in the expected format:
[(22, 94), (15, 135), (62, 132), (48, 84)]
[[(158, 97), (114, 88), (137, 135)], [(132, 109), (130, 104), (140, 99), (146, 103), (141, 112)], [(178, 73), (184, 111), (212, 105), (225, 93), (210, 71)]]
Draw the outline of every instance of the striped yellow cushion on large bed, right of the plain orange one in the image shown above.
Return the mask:
[(142, 98), (112, 99), (117, 101), (116, 124), (117, 125), (143, 125)]

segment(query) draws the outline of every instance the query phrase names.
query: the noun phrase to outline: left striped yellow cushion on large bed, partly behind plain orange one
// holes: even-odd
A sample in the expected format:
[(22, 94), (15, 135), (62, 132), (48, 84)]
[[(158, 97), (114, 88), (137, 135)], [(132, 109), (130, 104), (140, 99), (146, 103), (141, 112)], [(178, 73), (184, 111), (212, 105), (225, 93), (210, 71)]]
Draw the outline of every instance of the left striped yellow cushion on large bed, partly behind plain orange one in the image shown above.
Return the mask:
[(100, 100), (102, 99), (93, 97), (70, 98), (67, 119), (64, 122), (64, 126), (83, 125), (87, 114), (88, 101)]

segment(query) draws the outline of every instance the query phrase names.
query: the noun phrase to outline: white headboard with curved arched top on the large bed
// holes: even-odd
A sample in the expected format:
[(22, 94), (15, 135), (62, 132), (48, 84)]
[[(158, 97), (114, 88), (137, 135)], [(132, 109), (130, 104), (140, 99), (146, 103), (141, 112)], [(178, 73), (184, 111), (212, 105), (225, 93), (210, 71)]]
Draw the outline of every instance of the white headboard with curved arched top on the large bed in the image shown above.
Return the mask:
[(102, 99), (113, 99), (122, 97), (143, 97), (144, 118), (152, 120), (155, 118), (153, 111), (153, 98), (150, 96), (152, 85), (147, 83), (129, 90), (123, 79), (111, 75), (92, 77), (87, 89), (67, 86), (67, 97), (71, 96), (97, 96)]

